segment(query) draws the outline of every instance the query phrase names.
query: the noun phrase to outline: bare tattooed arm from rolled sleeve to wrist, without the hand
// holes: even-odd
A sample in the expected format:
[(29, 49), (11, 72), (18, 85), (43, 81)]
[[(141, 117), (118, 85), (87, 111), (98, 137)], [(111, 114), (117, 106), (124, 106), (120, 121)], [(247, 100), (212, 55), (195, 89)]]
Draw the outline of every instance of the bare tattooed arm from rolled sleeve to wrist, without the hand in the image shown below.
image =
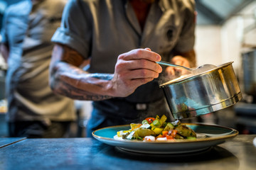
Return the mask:
[[(112, 74), (88, 74), (80, 66), (82, 55), (65, 45), (55, 45), (50, 62), (50, 88), (57, 94), (77, 100), (100, 101), (112, 98)], [(109, 88), (109, 89), (108, 89)]]

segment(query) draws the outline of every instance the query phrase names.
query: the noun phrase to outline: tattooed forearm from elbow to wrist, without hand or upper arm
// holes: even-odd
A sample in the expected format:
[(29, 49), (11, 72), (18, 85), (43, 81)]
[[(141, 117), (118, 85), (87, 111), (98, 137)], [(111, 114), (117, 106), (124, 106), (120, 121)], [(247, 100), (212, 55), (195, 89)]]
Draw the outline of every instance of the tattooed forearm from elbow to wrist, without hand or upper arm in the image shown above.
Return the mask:
[(50, 87), (55, 93), (87, 101), (112, 98), (107, 95), (109, 89), (106, 85), (112, 79), (112, 74), (87, 74), (65, 62), (60, 62), (55, 67), (50, 77)]

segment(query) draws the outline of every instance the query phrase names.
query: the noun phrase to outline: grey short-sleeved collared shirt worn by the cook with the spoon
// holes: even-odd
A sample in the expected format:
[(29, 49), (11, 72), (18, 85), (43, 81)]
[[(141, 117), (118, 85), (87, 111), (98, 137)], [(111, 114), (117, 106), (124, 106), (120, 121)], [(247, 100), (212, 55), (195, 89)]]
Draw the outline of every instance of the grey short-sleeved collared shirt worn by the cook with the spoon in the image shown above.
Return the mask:
[[(193, 50), (194, 29), (193, 0), (155, 1), (144, 30), (129, 1), (70, 0), (52, 41), (72, 47), (85, 59), (90, 58), (88, 72), (113, 73), (118, 55), (129, 50), (150, 47), (162, 60), (170, 60), (174, 50)], [(157, 81), (151, 81), (122, 99), (146, 103), (160, 98), (164, 98), (163, 91)]]

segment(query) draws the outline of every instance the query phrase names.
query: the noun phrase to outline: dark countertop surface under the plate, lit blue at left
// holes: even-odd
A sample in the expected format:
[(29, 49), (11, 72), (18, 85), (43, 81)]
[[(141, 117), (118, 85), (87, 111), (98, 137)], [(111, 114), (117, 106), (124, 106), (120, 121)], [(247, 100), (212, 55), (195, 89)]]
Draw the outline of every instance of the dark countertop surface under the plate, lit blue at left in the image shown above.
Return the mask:
[(124, 152), (92, 138), (26, 139), (0, 148), (0, 169), (225, 169), (256, 167), (256, 135), (193, 154), (159, 155)]

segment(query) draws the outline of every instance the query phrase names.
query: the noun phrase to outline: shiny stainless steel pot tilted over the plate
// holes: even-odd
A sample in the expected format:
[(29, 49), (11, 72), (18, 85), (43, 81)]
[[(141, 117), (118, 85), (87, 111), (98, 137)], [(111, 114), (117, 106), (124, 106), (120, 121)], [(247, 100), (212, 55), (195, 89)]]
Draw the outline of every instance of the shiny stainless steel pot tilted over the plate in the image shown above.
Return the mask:
[(161, 84), (174, 118), (204, 115), (240, 101), (242, 94), (232, 63)]

